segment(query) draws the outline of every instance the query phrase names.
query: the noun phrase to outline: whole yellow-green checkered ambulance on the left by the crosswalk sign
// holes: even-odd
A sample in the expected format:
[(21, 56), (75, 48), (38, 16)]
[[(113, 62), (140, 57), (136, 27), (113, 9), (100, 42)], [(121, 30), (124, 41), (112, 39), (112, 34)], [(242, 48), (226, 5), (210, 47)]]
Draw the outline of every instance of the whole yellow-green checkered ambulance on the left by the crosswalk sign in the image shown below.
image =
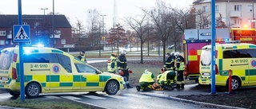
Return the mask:
[[(102, 72), (77, 57), (59, 49), (24, 47), (24, 89), (29, 98), (40, 93), (106, 91), (115, 95), (123, 89), (122, 76)], [(20, 95), (18, 46), (2, 49), (0, 56), (0, 90)]]

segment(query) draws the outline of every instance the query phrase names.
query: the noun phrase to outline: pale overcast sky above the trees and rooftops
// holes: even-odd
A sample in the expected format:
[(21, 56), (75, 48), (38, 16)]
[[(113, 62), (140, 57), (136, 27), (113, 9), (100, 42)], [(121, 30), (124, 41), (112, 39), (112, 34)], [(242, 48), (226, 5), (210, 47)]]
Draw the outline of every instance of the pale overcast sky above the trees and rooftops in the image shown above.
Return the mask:
[[(162, 1), (178, 9), (186, 9), (194, 2), (194, 0)], [(0, 0), (0, 2), (0, 14), (18, 14), (18, 0)], [(155, 2), (155, 0), (116, 0), (116, 16), (124, 18), (142, 14), (139, 7), (149, 9)], [(48, 8), (45, 13), (49, 14), (53, 11), (53, 0), (22, 0), (22, 14), (43, 14), (41, 8)], [(102, 15), (106, 14), (104, 18), (106, 28), (113, 25), (114, 0), (54, 0), (54, 12), (70, 18), (71, 25), (75, 24), (76, 19), (86, 25), (88, 10), (93, 9), (98, 10)]]

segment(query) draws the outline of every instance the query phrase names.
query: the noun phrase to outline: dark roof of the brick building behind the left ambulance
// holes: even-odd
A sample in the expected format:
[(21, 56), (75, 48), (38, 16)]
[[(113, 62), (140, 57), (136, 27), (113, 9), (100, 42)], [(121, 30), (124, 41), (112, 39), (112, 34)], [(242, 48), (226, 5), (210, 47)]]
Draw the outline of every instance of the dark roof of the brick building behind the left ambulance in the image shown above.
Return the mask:
[[(46, 18), (52, 24), (53, 15), (22, 15), (22, 21), (43, 21)], [(0, 28), (10, 28), (12, 25), (18, 25), (18, 15), (0, 14)], [(34, 22), (33, 22), (34, 24)], [(28, 23), (30, 25), (30, 23)], [(65, 15), (54, 15), (54, 27), (71, 28), (70, 22)]]

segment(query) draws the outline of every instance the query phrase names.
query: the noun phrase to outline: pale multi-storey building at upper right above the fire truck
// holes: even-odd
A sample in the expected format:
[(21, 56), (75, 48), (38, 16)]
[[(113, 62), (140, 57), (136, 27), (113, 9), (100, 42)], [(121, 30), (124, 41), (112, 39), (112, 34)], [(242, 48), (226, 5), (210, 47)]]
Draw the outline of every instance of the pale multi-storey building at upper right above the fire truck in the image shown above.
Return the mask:
[[(211, 21), (211, 0), (195, 0), (193, 4), (196, 12), (201, 11)], [(215, 0), (215, 16), (225, 22), (227, 27), (254, 28), (255, 5), (255, 0)], [(196, 20), (200, 22), (198, 17)], [(202, 27), (197, 25), (197, 28)]]

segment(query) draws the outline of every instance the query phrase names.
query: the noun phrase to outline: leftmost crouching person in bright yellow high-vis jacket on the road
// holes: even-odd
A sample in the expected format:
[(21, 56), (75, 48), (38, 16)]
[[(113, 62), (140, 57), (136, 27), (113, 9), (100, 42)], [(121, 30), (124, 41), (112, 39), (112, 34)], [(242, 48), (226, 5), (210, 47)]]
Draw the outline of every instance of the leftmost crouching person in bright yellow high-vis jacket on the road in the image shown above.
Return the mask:
[(142, 74), (141, 78), (139, 79), (139, 84), (136, 86), (137, 91), (143, 89), (143, 91), (148, 91), (154, 89), (154, 74), (150, 72), (148, 69)]

